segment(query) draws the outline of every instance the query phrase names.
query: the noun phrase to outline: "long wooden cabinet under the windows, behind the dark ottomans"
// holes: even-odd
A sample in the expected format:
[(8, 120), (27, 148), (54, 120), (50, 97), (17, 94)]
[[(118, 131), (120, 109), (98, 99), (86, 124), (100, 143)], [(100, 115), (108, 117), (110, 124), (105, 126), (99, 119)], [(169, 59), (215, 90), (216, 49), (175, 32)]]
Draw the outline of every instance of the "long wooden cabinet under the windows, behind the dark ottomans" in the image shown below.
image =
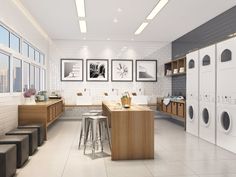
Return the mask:
[(45, 140), (47, 139), (47, 127), (52, 124), (64, 111), (62, 100), (49, 100), (32, 105), (18, 106), (19, 125), (43, 124)]

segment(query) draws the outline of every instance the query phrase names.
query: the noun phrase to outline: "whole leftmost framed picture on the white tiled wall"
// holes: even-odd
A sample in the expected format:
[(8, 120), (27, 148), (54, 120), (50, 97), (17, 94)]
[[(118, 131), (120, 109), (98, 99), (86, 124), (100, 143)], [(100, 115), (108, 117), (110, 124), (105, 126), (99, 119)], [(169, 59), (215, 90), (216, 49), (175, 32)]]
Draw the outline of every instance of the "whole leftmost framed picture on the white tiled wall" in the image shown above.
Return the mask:
[(82, 59), (61, 59), (61, 81), (83, 81)]

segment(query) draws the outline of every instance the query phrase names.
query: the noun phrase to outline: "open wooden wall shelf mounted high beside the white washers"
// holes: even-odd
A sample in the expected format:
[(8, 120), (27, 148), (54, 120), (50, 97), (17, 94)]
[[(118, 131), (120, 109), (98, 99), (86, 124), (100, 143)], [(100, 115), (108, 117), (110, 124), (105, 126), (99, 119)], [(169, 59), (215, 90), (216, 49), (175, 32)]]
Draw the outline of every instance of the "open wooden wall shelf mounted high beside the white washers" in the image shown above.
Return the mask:
[[(181, 72), (180, 69), (183, 68)], [(172, 60), (164, 65), (165, 76), (179, 76), (186, 74), (186, 57)]]

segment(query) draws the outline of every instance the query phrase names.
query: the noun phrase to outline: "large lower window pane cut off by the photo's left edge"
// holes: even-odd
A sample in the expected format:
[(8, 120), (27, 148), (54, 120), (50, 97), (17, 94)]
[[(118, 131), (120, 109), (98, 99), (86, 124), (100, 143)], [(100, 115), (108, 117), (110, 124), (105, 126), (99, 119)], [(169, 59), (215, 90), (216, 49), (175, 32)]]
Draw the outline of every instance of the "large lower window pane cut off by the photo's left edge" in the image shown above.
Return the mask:
[(0, 93), (10, 92), (10, 56), (0, 53)]

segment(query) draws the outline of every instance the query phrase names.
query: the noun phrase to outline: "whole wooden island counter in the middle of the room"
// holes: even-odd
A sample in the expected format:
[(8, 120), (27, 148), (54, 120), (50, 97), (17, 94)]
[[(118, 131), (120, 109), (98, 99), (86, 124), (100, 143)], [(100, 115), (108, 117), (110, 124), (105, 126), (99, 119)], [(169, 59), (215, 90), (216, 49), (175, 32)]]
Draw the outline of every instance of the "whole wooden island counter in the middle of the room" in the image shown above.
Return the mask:
[(112, 160), (154, 158), (154, 113), (146, 106), (102, 103), (111, 126)]

